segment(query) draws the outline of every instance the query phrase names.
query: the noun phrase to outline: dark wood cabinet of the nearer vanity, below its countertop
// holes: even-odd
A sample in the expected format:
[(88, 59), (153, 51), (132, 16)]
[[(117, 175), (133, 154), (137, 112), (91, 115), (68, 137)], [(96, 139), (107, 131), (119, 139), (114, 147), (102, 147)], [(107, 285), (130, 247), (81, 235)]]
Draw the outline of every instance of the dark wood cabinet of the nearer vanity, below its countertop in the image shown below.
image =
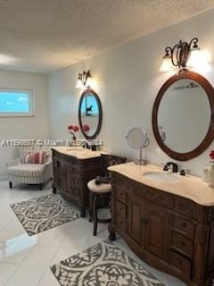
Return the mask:
[[(110, 239), (187, 285), (213, 286), (214, 207), (200, 206), (111, 172)], [(213, 280), (214, 282), (214, 280)]]

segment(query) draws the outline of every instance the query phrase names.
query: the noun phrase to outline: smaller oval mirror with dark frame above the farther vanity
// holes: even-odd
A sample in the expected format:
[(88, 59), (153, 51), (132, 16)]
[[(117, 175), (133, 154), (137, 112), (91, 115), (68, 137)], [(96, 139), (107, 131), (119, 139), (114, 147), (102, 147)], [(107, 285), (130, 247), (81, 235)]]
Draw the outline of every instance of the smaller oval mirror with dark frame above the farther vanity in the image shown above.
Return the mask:
[(87, 88), (78, 104), (78, 122), (86, 139), (95, 139), (102, 124), (102, 106), (95, 90)]

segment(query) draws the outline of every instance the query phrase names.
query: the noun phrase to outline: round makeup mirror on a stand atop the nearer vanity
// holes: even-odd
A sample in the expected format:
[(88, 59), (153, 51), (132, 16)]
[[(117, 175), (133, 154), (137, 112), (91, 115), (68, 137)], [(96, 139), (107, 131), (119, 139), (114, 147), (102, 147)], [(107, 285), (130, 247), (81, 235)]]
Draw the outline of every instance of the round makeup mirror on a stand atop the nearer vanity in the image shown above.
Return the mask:
[(142, 150), (149, 145), (149, 138), (146, 131), (141, 127), (135, 127), (128, 131), (126, 136), (128, 145), (134, 149), (140, 149), (140, 157), (135, 160), (135, 164), (147, 164), (147, 161), (143, 159)]

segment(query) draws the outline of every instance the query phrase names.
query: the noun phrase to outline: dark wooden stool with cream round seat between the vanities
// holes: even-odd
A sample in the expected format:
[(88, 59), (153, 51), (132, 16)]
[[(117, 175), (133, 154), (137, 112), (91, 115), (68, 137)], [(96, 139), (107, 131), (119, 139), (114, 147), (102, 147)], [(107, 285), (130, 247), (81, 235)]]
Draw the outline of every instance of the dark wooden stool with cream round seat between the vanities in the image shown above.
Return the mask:
[(111, 223), (111, 218), (100, 219), (97, 217), (98, 201), (99, 198), (108, 199), (109, 203), (111, 200), (111, 184), (102, 183), (100, 185), (95, 184), (95, 179), (88, 181), (87, 188), (90, 190), (90, 201), (89, 201), (89, 219), (93, 219), (94, 222), (94, 232), (93, 235), (96, 236), (97, 223)]

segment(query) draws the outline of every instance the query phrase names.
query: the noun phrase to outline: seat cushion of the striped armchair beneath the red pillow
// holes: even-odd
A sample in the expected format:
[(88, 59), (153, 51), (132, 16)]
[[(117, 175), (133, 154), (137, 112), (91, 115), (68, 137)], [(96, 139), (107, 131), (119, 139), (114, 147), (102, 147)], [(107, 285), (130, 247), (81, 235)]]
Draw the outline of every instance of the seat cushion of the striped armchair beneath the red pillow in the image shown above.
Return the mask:
[(8, 167), (8, 175), (22, 177), (40, 177), (43, 174), (44, 166), (42, 164), (17, 164)]

